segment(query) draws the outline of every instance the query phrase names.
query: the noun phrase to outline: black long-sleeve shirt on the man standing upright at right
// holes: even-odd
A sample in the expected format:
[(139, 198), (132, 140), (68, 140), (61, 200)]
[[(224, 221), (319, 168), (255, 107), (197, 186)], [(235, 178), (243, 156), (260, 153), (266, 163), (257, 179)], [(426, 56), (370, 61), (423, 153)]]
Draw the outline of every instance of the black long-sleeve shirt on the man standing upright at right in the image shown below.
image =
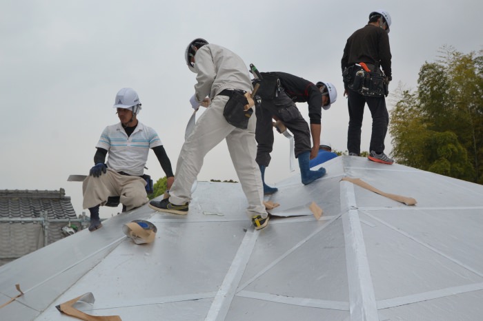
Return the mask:
[(376, 25), (368, 24), (356, 30), (347, 39), (341, 61), (342, 72), (355, 63), (371, 63), (381, 66), (384, 74), (391, 81), (393, 79), (391, 58), (387, 32)]

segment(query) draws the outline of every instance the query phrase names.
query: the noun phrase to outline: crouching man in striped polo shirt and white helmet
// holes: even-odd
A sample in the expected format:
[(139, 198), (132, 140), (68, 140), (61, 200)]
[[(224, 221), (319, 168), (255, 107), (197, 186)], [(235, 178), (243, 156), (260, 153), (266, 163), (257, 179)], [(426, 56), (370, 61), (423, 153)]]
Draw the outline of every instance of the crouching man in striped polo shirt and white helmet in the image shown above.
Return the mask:
[[(106, 205), (110, 196), (120, 196), (119, 202), (128, 211), (148, 203), (148, 181), (144, 168), (149, 149), (155, 152), (166, 174), (168, 189), (175, 179), (159, 136), (151, 127), (137, 120), (141, 110), (137, 93), (131, 88), (122, 88), (117, 92), (112, 107), (117, 109), (120, 122), (103, 130), (96, 145), (95, 165), (82, 185), (83, 208), (90, 211), (89, 231), (102, 227), (99, 205)], [(105, 163), (107, 154), (108, 161)]]

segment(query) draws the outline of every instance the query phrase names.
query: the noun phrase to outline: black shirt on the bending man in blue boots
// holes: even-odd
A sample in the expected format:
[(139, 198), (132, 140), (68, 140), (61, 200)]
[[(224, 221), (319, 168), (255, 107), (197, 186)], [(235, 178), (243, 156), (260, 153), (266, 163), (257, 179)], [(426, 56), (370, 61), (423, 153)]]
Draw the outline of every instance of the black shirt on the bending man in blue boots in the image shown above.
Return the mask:
[(286, 72), (272, 72), (277, 74), (280, 85), (285, 93), (295, 103), (308, 103), (308, 118), (311, 124), (320, 124), (322, 118), (322, 92), (316, 85), (306, 79)]

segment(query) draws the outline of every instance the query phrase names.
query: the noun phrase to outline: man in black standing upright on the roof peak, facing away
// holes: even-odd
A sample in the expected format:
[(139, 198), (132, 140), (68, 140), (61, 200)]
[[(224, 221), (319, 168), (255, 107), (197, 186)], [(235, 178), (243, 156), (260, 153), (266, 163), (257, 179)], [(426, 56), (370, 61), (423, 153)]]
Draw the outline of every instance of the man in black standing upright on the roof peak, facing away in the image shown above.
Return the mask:
[(388, 83), (392, 80), (388, 37), (390, 26), (391, 16), (387, 11), (371, 12), (368, 24), (356, 30), (347, 39), (341, 61), (344, 96), (348, 96), (347, 149), (349, 155), (359, 156), (360, 154), (362, 117), (364, 105), (367, 103), (373, 117), (368, 159), (384, 164), (394, 162), (384, 154), (384, 138), (389, 124), (384, 96), (387, 96)]

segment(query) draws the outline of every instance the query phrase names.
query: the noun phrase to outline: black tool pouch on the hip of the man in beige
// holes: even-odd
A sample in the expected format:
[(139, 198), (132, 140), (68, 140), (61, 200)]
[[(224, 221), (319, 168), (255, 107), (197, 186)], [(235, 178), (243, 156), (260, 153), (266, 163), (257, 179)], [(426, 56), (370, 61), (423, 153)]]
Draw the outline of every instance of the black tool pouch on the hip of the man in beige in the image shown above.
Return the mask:
[(246, 130), (248, 121), (253, 114), (253, 99), (248, 92), (243, 90), (223, 90), (219, 93), (221, 96), (228, 96), (230, 99), (226, 102), (223, 110), (223, 116), (226, 121), (235, 127)]

